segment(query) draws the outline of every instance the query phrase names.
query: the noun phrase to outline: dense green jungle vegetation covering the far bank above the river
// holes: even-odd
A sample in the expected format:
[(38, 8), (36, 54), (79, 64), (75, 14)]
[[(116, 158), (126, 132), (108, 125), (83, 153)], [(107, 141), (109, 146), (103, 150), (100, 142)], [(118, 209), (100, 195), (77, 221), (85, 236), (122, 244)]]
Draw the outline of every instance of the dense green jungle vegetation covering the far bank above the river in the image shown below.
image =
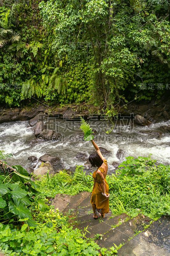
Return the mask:
[[(161, 1), (2, 1), (0, 102), (121, 102), (169, 95), (169, 6)], [(30, 101), (29, 101), (30, 100)]]

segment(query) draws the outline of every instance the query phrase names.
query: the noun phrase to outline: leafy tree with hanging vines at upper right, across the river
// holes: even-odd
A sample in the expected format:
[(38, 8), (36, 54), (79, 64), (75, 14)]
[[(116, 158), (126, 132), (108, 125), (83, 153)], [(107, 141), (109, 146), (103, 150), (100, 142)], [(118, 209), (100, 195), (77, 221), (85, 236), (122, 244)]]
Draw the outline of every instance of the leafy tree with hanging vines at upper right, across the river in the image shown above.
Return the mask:
[[(158, 85), (169, 80), (170, 23), (166, 0), (162, 2), (39, 4), (58, 61), (74, 65), (81, 60), (91, 66), (90, 98), (99, 112), (113, 116), (122, 100), (150, 100), (165, 93), (165, 85), (163, 90)], [(138, 86), (149, 83), (156, 90)]]

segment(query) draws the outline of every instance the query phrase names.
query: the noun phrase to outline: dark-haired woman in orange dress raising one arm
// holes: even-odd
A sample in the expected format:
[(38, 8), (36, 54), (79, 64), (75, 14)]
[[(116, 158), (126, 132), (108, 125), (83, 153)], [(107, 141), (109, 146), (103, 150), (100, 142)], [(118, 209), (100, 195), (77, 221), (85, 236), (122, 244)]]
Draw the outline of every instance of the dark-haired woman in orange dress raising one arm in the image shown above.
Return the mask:
[[(94, 140), (91, 140), (97, 153), (93, 153), (89, 156), (89, 162), (92, 167), (98, 167), (95, 172), (93, 172), (94, 185), (92, 189), (92, 197), (90, 203), (92, 204), (92, 209), (94, 212), (93, 218), (97, 220), (99, 216), (104, 217), (105, 213), (109, 212), (109, 186), (106, 181), (107, 175), (107, 161), (102, 156), (99, 147), (96, 145)], [(97, 215), (99, 212), (99, 216)], [(101, 214), (100, 214), (101, 213)]]

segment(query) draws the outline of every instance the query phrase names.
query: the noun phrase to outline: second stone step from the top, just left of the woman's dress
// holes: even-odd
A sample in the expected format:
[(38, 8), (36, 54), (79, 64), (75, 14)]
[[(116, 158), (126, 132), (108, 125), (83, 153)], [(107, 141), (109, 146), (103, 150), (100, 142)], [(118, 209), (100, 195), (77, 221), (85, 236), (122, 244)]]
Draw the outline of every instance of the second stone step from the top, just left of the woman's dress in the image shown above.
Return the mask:
[(67, 213), (67, 212), (71, 212), (70, 215), (73, 215), (74, 212), (75, 212), (75, 209), (78, 207), (78, 205), (80, 203), (83, 202), (83, 200), (86, 198), (86, 197), (89, 197), (91, 195), (90, 192), (87, 192), (87, 191), (83, 191), (83, 192), (80, 192), (79, 194), (73, 196), (70, 200), (70, 203), (67, 204), (67, 206), (63, 209), (63, 213)]

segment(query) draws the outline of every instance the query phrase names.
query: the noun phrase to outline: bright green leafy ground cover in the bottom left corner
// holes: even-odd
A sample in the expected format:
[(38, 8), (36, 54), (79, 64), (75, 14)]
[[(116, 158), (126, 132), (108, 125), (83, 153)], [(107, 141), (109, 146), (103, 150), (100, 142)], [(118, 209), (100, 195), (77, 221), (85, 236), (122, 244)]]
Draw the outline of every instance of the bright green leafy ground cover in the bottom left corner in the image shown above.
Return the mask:
[(34, 218), (39, 221), (37, 227), (29, 228), (27, 223), (22, 226), (0, 224), (0, 250), (16, 256), (23, 253), (36, 256), (99, 255), (100, 247), (93, 241), (87, 243), (77, 228), (69, 228), (67, 217), (58, 210), (39, 212)]

